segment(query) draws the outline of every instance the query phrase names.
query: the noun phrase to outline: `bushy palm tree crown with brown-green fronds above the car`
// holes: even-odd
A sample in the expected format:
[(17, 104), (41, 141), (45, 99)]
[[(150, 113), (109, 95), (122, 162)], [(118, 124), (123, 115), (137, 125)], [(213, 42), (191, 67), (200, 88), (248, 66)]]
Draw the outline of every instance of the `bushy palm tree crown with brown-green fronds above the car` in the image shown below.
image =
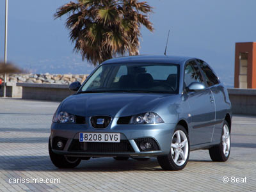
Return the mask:
[(68, 14), (66, 26), (74, 51), (93, 65), (116, 55), (138, 54), (140, 28), (153, 31), (152, 7), (138, 0), (77, 0), (60, 8), (55, 19)]

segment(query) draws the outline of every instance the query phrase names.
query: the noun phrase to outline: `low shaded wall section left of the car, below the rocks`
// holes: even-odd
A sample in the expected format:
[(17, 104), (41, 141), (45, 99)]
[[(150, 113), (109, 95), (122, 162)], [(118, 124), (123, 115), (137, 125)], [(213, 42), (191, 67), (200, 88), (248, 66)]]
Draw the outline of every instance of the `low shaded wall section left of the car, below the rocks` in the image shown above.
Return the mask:
[(68, 89), (68, 84), (17, 83), (22, 86), (22, 99), (61, 101), (76, 92)]

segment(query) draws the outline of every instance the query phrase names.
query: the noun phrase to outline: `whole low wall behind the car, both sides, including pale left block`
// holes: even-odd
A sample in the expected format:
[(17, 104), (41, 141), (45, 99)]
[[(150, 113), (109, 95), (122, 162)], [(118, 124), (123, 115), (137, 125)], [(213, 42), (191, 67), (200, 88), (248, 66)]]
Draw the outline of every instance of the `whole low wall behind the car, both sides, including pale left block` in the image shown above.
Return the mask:
[[(7, 86), (8, 97), (22, 99), (61, 101), (74, 93), (67, 84), (17, 83)], [(228, 94), (234, 114), (256, 115), (256, 89), (229, 88)]]

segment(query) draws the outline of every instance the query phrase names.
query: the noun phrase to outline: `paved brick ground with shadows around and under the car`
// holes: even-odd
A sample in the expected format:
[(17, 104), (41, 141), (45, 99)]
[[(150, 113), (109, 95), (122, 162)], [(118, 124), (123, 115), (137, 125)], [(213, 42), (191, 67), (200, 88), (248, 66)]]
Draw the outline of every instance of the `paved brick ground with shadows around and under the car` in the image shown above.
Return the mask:
[[(232, 152), (226, 163), (213, 163), (207, 150), (199, 150), (191, 152), (180, 172), (161, 170), (155, 158), (97, 158), (73, 170), (59, 170), (47, 150), (57, 106), (58, 102), (0, 99), (0, 191), (256, 191), (256, 117), (233, 117)], [(227, 183), (223, 177), (228, 177)], [(13, 183), (19, 179), (21, 183)]]

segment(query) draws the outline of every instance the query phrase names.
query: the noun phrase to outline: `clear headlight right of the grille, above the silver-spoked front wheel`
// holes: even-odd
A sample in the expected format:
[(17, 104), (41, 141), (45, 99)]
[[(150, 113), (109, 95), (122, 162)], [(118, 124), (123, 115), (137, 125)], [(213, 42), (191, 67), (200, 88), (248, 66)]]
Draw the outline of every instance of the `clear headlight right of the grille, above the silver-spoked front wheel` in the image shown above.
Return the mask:
[(156, 113), (148, 112), (132, 116), (133, 124), (161, 124), (164, 123), (161, 116)]

